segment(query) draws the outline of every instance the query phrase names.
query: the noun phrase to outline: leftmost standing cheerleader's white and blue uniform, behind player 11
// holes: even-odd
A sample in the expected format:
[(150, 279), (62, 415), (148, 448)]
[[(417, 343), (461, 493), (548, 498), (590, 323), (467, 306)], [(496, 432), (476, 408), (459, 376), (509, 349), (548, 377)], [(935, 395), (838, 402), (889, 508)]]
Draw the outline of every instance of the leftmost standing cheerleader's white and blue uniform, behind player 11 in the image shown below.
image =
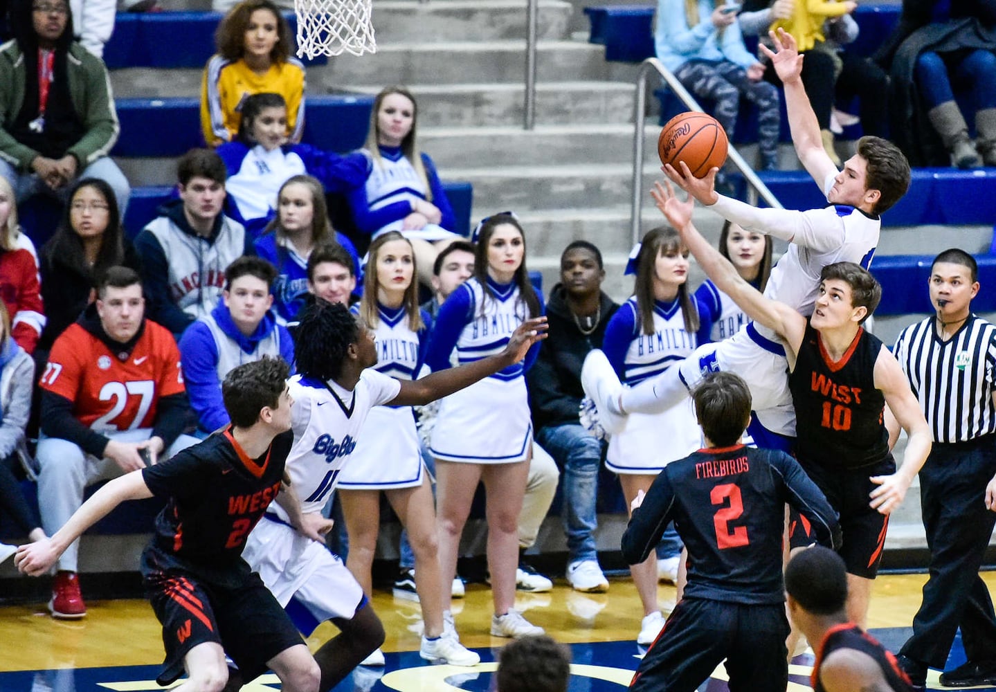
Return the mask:
[[(359, 306), (352, 309), (359, 314)], [(396, 379), (414, 379), (422, 366), (429, 316), (421, 311), (426, 327), (413, 332), (404, 306), (392, 309), (377, 304), (376, 337), (378, 372)], [(357, 443), (353, 458), (339, 476), (343, 490), (395, 490), (420, 486), (425, 473), (418, 432), (411, 406), (376, 406), (367, 417), (368, 435)]]

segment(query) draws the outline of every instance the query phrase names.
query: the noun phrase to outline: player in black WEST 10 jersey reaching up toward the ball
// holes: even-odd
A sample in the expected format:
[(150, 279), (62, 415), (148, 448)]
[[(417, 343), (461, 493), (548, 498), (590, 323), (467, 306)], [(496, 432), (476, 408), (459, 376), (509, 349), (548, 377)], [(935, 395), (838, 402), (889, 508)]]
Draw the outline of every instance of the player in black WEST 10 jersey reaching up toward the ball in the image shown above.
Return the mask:
[[(930, 428), (899, 363), (862, 329), (878, 305), (881, 287), (857, 264), (829, 265), (820, 275), (815, 310), (807, 320), (765, 298), (695, 230), (693, 200), (675, 198), (669, 183), (657, 183), (652, 194), (716, 287), (785, 342), (797, 456), (841, 515), (848, 616), (865, 626), (888, 514), (902, 503), (931, 444)], [(909, 437), (898, 470), (888, 449), (886, 403)], [(805, 518), (794, 523), (793, 547), (811, 543)]]

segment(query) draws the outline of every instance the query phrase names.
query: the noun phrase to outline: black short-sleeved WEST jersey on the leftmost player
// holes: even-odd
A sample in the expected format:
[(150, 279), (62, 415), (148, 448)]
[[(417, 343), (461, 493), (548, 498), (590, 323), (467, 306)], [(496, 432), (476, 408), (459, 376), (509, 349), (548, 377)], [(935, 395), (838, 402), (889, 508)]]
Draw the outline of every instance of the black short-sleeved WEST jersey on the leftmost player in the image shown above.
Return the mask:
[(242, 560), (249, 532), (280, 491), (294, 435), (277, 435), (257, 459), (230, 432), (211, 435), (142, 470), (153, 495), (168, 498), (142, 554), (142, 574), (182, 570), (235, 586), (250, 574)]

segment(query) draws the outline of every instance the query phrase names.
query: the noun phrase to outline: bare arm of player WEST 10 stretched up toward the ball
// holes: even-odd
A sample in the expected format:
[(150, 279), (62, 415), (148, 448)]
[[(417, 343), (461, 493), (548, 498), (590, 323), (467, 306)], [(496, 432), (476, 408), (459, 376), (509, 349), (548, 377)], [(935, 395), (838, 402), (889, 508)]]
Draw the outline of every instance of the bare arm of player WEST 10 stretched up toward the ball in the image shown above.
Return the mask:
[(751, 320), (781, 336), (792, 349), (793, 356), (799, 352), (806, 333), (806, 318), (784, 303), (765, 298), (760, 291), (744, 281), (730, 261), (702, 237), (691, 222), (691, 210), (695, 204), (691, 197), (680, 201), (674, 196), (673, 188), (667, 181), (663, 185), (653, 183), (650, 195), (657, 208), (681, 234), (681, 240), (716, 288), (740, 306)]

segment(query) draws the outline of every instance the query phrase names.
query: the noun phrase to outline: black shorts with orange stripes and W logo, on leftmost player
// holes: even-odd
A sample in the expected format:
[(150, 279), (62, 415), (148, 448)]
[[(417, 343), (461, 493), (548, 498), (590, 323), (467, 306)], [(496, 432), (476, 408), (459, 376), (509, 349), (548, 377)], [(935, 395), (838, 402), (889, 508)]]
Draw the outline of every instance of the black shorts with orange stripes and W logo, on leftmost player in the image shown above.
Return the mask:
[(145, 573), (144, 586), (162, 623), (166, 658), (156, 678), (160, 685), (183, 674), (183, 659), (197, 644), (220, 644), (248, 683), (266, 672), (267, 661), (303, 643), (284, 608), (255, 573), (237, 586), (222, 586), (176, 570), (151, 572)]

